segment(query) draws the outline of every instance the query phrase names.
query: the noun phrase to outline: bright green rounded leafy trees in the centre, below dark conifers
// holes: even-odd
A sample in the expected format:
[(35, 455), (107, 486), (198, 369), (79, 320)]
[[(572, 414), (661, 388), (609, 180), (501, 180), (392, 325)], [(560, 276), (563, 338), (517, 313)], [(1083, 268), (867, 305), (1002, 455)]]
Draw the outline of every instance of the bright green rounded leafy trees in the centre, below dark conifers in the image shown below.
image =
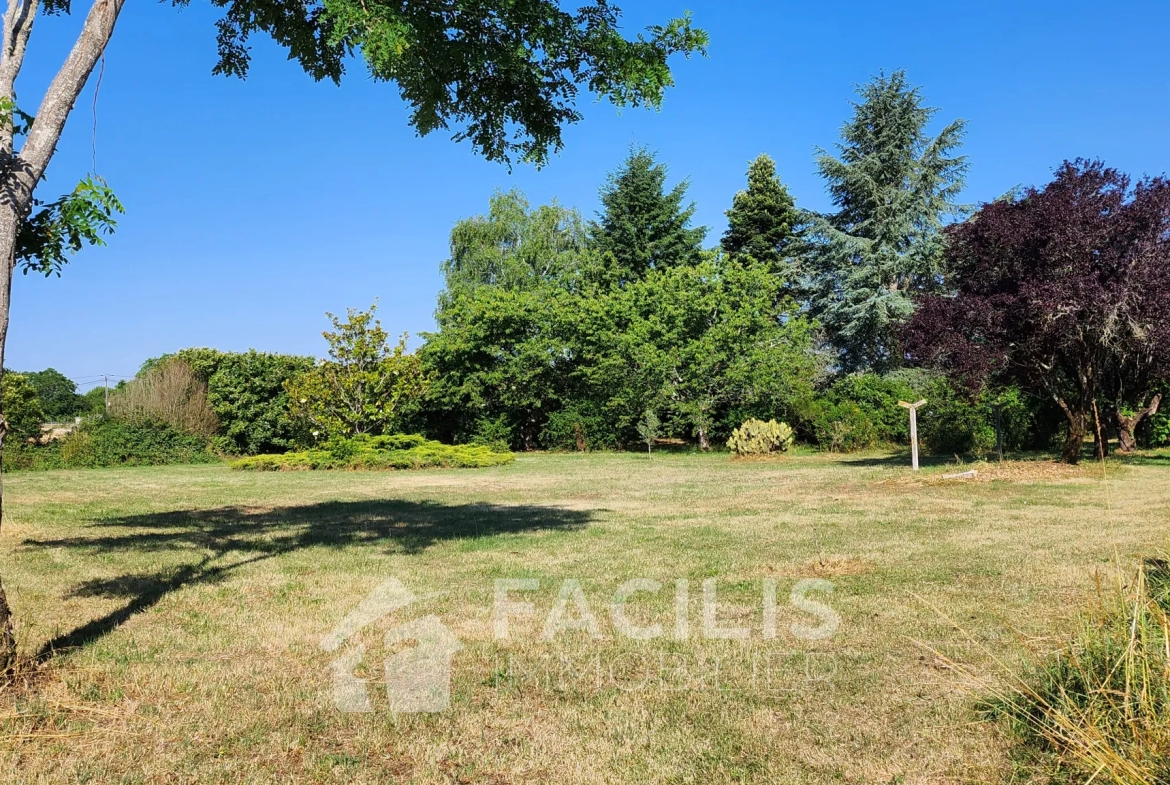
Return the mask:
[[(522, 449), (620, 448), (655, 407), (663, 433), (707, 443), (812, 394), (813, 325), (764, 264), (701, 252), (599, 285), (576, 223), (538, 220), (567, 215), (497, 195), (488, 218), (453, 233), (439, 331), (419, 351), (433, 380), (427, 433)], [(525, 245), (558, 256), (541, 264)]]

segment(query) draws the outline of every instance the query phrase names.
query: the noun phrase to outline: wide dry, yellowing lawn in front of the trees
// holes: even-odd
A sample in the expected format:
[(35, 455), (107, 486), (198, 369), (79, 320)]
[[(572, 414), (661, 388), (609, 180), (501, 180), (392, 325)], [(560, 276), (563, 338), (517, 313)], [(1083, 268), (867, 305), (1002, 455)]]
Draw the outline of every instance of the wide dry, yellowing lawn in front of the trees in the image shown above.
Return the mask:
[[(973, 481), (903, 464), (535, 455), (6, 477), (0, 559), (41, 665), (0, 693), (0, 781), (1020, 781), (950, 663), (993, 677), (1052, 646), (1119, 562), (1164, 549), (1170, 460), (1110, 463), (1107, 481), (1092, 464), (980, 466)], [(365, 647), (373, 710), (340, 711), (319, 643), (387, 578), (419, 599), (344, 647)], [(510, 617), (507, 640), (501, 578), (539, 580), (509, 594), (535, 613)], [(627, 606), (661, 638), (611, 619), (635, 578), (662, 584)], [(717, 624), (748, 640), (703, 635), (711, 578)], [(828, 631), (831, 614), (790, 602), (808, 578), (832, 583), (808, 598), (840, 619), (820, 640), (791, 629)], [(542, 636), (565, 580), (598, 636)], [(449, 708), (395, 714), (378, 680), (402, 646), (385, 634), (431, 614), (462, 645)]]

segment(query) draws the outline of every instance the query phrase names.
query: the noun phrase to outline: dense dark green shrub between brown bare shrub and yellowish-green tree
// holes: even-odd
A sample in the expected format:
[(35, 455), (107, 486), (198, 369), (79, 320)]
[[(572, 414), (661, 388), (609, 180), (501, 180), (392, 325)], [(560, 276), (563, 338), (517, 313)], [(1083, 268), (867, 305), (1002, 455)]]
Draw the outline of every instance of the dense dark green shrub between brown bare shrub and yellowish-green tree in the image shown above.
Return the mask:
[(220, 421), (214, 443), (221, 452), (278, 453), (305, 440), (290, 413), (285, 385), (314, 367), (311, 357), (214, 349), (184, 349), (173, 357), (207, 383), (207, 402)]

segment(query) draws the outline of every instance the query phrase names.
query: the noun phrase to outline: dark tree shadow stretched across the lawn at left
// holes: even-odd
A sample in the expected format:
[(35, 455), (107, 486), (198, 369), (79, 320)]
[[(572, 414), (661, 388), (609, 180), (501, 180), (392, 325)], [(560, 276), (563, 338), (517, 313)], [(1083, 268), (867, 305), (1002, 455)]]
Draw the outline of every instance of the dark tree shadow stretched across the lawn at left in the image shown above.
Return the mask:
[(583, 529), (587, 510), (500, 504), (439, 504), (398, 500), (324, 502), (281, 508), (225, 507), (95, 521), (91, 536), (26, 539), (23, 548), (64, 548), (94, 556), (191, 553), (197, 558), (156, 572), (87, 580), (71, 597), (125, 599), (126, 604), (41, 647), (37, 660), (85, 646), (186, 586), (223, 580), (235, 570), (309, 548), (356, 545), (417, 555), (443, 540), (529, 531)]

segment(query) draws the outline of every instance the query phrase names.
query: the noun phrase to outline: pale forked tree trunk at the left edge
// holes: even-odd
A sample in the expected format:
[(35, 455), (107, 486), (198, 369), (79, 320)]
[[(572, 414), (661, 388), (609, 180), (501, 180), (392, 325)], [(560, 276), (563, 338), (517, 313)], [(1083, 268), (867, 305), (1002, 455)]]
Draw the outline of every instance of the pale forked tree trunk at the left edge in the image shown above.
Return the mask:
[[(8, 338), (8, 315), (12, 304), (12, 276), (16, 267), (16, 241), (21, 226), (33, 207), (33, 192), (44, 175), (56, 151), (69, 112), (81, 95), (89, 75), (105, 51), (113, 26), (125, 0), (95, 0), (85, 23), (53, 78), (25, 144), (15, 150), (16, 77), (25, 63), (25, 51), (40, 0), (8, 0), (0, 42), (0, 99), (7, 102), (0, 118), (0, 378), (4, 373), (5, 346)], [(0, 460), (7, 422), (0, 404)], [(4, 487), (0, 483), (0, 529), (4, 522)], [(4, 588), (0, 567), (0, 673), (15, 665), (16, 640), (12, 608)]]

